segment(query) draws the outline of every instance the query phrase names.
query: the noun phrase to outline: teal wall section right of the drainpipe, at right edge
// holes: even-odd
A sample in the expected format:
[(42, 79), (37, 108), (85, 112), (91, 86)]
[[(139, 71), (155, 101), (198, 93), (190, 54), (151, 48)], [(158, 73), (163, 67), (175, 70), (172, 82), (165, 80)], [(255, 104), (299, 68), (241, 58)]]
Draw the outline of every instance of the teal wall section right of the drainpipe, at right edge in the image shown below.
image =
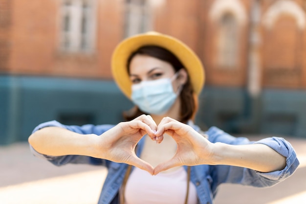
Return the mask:
[(265, 90), (261, 133), (306, 138), (306, 91)]

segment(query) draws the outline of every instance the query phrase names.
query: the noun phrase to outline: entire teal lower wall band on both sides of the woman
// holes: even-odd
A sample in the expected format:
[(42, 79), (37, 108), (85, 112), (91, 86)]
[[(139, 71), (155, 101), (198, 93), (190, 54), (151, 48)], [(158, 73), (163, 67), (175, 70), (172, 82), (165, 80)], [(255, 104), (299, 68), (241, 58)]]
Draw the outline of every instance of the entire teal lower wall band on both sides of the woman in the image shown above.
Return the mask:
[[(263, 90), (252, 98), (245, 89), (206, 86), (196, 123), (233, 134), (306, 137), (306, 91)], [(0, 76), (0, 144), (25, 141), (40, 123), (116, 124), (131, 102), (112, 81)]]

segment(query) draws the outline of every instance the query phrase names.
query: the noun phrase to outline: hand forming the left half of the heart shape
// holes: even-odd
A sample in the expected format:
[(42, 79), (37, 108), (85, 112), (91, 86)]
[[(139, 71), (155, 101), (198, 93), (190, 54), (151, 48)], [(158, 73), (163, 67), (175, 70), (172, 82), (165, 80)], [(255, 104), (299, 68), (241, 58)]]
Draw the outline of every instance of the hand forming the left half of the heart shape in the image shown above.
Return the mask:
[(150, 115), (140, 115), (131, 121), (121, 122), (98, 136), (95, 157), (127, 163), (153, 175), (153, 166), (136, 156), (135, 147), (146, 134), (155, 140), (156, 129), (157, 125)]

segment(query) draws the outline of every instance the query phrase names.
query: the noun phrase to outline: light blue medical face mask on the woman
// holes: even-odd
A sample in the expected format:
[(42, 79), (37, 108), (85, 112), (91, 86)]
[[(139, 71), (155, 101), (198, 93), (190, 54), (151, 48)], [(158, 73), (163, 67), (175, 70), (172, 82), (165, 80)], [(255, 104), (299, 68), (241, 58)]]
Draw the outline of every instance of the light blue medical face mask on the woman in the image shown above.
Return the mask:
[(166, 113), (181, 91), (180, 87), (175, 93), (172, 87), (172, 81), (177, 77), (177, 73), (172, 78), (142, 81), (132, 85), (131, 100), (145, 113), (156, 115)]

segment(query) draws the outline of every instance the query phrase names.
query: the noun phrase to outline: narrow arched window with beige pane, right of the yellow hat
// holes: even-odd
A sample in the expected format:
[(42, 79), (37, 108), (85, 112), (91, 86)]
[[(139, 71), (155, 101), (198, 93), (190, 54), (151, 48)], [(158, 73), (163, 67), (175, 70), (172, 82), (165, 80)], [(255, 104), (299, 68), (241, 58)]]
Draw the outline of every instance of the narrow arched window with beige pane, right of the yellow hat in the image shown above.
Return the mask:
[(217, 67), (235, 68), (238, 55), (238, 22), (232, 13), (219, 19), (217, 37)]

